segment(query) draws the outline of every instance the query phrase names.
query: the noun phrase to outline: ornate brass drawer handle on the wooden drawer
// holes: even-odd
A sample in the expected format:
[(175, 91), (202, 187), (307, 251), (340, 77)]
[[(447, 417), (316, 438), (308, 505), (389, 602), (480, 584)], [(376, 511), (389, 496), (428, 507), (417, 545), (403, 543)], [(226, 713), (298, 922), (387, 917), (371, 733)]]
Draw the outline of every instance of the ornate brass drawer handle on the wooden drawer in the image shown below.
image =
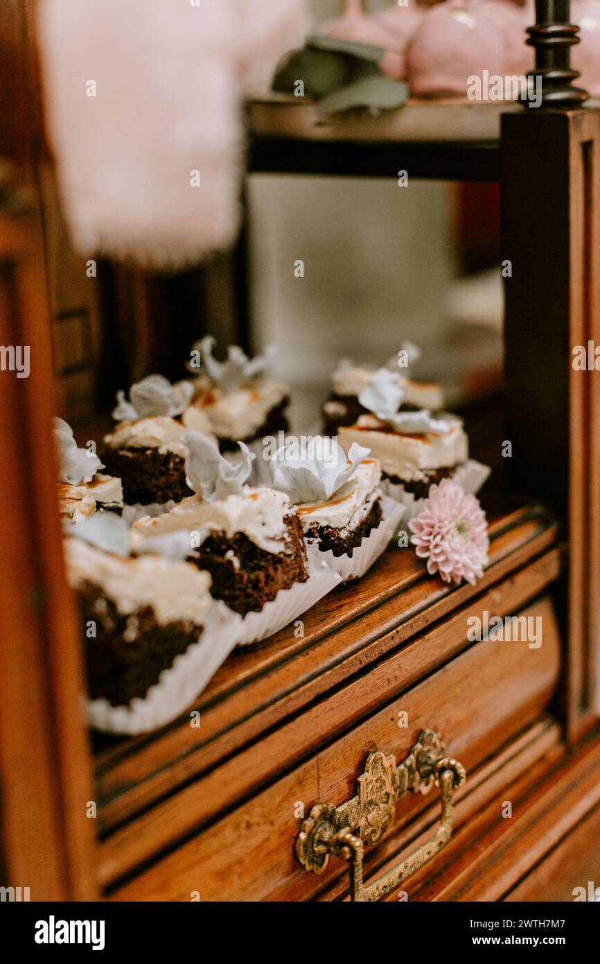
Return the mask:
[[(358, 777), (357, 794), (340, 807), (316, 804), (300, 828), (296, 854), (300, 864), (313, 873), (323, 873), (330, 854), (350, 864), (351, 900), (378, 900), (393, 891), (406, 877), (434, 857), (452, 836), (453, 790), (466, 779), (462, 763), (444, 756), (441, 736), (424, 730), (418, 743), (403, 761), (377, 750), (370, 753), (365, 772)], [(394, 819), (396, 804), (406, 790), (427, 793), (435, 784), (442, 803), (441, 823), (433, 836), (406, 858), (365, 887), (362, 881), (363, 851), (378, 844)]]

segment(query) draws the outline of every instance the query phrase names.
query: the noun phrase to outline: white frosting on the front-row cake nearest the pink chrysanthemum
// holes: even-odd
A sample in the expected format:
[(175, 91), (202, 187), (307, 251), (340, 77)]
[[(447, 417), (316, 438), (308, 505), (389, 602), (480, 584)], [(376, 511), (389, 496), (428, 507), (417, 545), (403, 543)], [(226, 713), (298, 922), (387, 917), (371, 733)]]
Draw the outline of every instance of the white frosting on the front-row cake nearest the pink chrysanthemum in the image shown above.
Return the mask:
[(302, 502), (298, 513), (304, 531), (311, 525), (330, 525), (335, 529), (355, 528), (369, 513), (378, 495), (381, 469), (377, 459), (366, 459), (354, 470), (352, 478), (324, 502)]

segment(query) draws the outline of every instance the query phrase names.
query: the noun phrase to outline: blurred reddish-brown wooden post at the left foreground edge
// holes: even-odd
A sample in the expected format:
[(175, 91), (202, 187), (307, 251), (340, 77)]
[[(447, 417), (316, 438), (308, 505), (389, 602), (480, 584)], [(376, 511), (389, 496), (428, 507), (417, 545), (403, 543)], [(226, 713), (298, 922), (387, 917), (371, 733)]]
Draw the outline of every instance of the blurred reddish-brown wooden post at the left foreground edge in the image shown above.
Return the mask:
[[(0, 205), (1, 208), (1, 205)], [(95, 897), (93, 799), (78, 618), (65, 582), (52, 447), (50, 329), (37, 210), (0, 209), (0, 342), (29, 377), (0, 377), (0, 779), (11, 886)]]

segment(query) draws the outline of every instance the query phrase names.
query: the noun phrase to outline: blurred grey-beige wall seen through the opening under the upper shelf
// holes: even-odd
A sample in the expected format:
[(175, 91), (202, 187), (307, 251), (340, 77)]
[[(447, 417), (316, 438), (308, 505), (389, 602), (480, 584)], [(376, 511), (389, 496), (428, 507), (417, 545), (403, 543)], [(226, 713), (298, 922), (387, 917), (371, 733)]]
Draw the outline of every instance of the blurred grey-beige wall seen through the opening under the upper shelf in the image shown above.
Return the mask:
[[(314, 22), (342, 8), (313, 0)], [(406, 187), (253, 175), (249, 201), (254, 344), (277, 344), (278, 373), (307, 389), (297, 420), (316, 415), (340, 358), (383, 362), (408, 338), (427, 351), (424, 376), (443, 367), (443, 295), (457, 274), (452, 185), (410, 172)], [(303, 278), (294, 274), (299, 259)]]

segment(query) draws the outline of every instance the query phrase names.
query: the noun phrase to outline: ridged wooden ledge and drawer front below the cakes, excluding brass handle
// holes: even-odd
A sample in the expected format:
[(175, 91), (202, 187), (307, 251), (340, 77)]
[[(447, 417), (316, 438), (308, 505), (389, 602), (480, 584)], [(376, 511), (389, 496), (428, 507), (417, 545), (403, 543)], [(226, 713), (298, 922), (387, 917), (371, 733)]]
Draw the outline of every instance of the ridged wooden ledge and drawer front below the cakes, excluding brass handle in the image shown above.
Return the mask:
[[(343, 860), (331, 856), (320, 873), (300, 866), (300, 828), (310, 830), (315, 804), (354, 796), (370, 754), (400, 763), (423, 731), (445, 743), (442, 753), (433, 741), (433, 763), (455, 757), (468, 779), (456, 791), (451, 844), (403, 892), (410, 899), (455, 898), (465, 887), (476, 897), (483, 888), (484, 899), (509, 893), (520, 867), (510, 864), (496, 882), (489, 866), (526, 828), (531, 846), (550, 843), (534, 844), (534, 796), (547, 779), (554, 798), (565, 765), (553, 715), (561, 640), (552, 597), (564, 550), (535, 506), (493, 522), (491, 535), (490, 566), (475, 589), (450, 590), (410, 550), (390, 549), (367, 577), (311, 609), (303, 636), (286, 629), (228, 659), (190, 715), (166, 732), (100, 750), (98, 868), (106, 894), (345, 897)], [(538, 617), (541, 645), (469, 642), (467, 620), (486, 612)], [(377, 822), (386, 792), (374, 773), (365, 788), (368, 822)], [(438, 798), (433, 787), (406, 792), (381, 844), (366, 849), (369, 880), (431, 836)]]

